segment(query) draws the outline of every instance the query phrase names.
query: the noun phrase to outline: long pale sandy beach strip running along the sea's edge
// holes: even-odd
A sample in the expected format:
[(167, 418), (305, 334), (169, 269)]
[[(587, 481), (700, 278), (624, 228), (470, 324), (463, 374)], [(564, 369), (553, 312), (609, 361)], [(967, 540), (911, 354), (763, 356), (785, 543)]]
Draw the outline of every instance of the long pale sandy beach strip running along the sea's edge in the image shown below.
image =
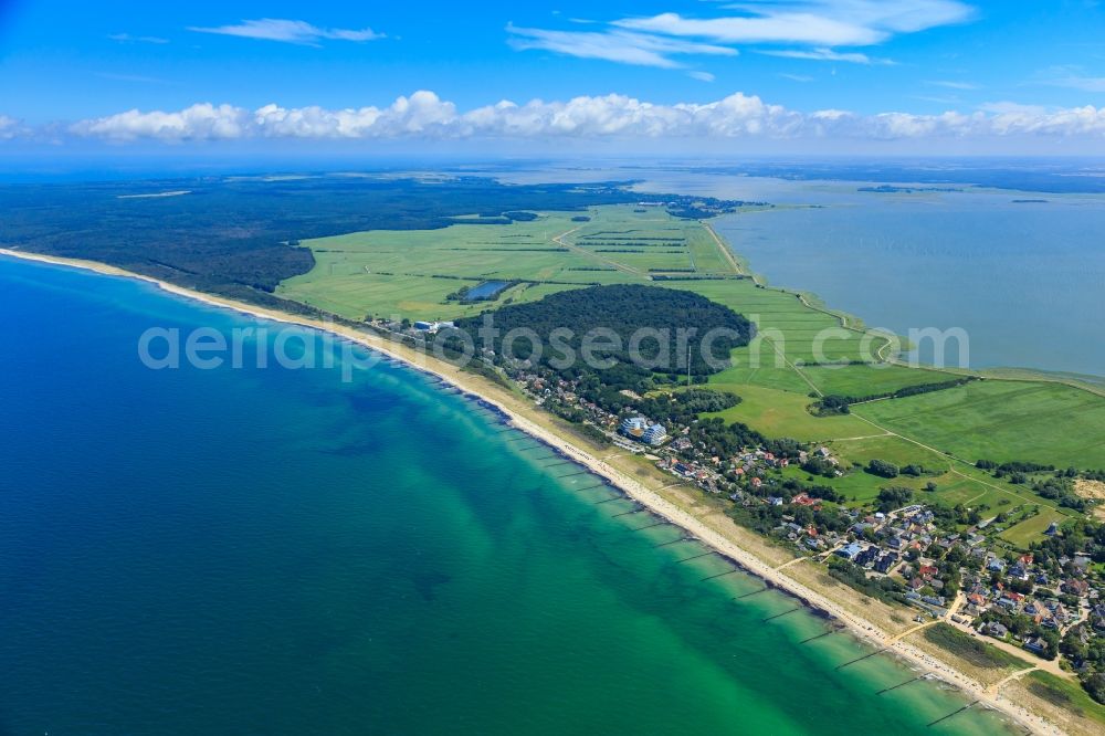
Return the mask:
[[(243, 302), (204, 294), (183, 286), (178, 286), (152, 276), (134, 273), (117, 266), (98, 263), (95, 261), (66, 259), (60, 256), (42, 255), (25, 251), (13, 251), (0, 248), (0, 255), (15, 257), (24, 261), (46, 263), (59, 266), (75, 267), (91, 271), (101, 275), (133, 278), (136, 281), (152, 284), (166, 293), (180, 296), (190, 301), (199, 302), (208, 306), (230, 309), (240, 315), (271, 322), (296, 325), (318, 329), (329, 333), (339, 338), (350, 340), (365, 348), (379, 353), (388, 358), (402, 362), (408, 368), (436, 377), (448, 386), (452, 386), (465, 395), (470, 395), (476, 400), (484, 402), (487, 408), (493, 409), (501, 418), (512, 427), (529, 434), (536, 440), (544, 442), (558, 453), (572, 462), (576, 462), (588, 471), (599, 475), (609, 482), (613, 487), (620, 490), (628, 497), (645, 506), (656, 516), (681, 527), (692, 536), (696, 537), (713, 551), (725, 557), (747, 572), (760, 578), (766, 585), (783, 590), (796, 597), (803, 606), (812, 609), (815, 614), (824, 616), (844, 624), (857, 639), (870, 644), (874, 644), (884, 653), (893, 654), (908, 665), (916, 667), (927, 675), (935, 675), (937, 679), (956, 687), (969, 700), (974, 700), (978, 705), (999, 711), (1013, 723), (1028, 728), (1032, 733), (1062, 734), (1063, 730), (1044, 718), (1030, 713), (1021, 705), (1010, 701), (999, 693), (991, 693), (983, 684), (975, 681), (953, 666), (935, 659), (919, 648), (904, 641), (904, 635), (892, 635), (875, 625), (873, 622), (851, 613), (842, 604), (836, 603), (828, 596), (820, 593), (794, 578), (788, 576), (783, 570), (777, 569), (771, 564), (760, 559), (755, 554), (743, 548), (736, 540), (724, 534), (705, 519), (695, 516), (686, 508), (682, 507), (662, 495), (630, 477), (623, 471), (613, 467), (604, 460), (594, 456), (587, 450), (582, 450), (570, 439), (566, 439), (554, 430), (543, 425), (535, 417), (540, 416), (543, 410), (528, 402), (523, 406), (512, 407), (506, 402), (509, 393), (507, 389), (497, 387), (478, 376), (466, 374), (455, 366), (438, 360), (436, 358), (414, 350), (401, 344), (391, 343), (382, 337), (358, 332), (351, 327), (330, 324), (307, 316), (297, 316), (291, 313), (270, 309), (261, 306), (253, 306)], [(496, 396), (502, 393), (503, 396)], [(513, 403), (516, 403), (513, 402)], [(733, 524), (727, 519), (728, 524)], [(911, 630), (912, 631), (912, 630)]]

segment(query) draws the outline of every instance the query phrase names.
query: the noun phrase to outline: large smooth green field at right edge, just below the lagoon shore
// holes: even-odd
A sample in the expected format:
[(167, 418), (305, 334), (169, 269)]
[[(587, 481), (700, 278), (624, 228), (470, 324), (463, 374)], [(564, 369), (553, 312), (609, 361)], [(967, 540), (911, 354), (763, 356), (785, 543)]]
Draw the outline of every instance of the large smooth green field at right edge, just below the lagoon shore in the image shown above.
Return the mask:
[(1105, 466), (1105, 401), (1059, 383), (976, 381), (853, 412), (968, 461)]

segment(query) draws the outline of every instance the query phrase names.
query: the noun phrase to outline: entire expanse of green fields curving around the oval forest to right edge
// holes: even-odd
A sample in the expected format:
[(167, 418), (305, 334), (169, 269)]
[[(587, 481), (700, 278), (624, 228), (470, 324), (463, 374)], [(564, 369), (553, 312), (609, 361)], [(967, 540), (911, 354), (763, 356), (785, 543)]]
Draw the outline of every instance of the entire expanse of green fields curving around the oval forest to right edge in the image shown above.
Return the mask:
[[(1028, 487), (994, 480), (968, 463), (988, 458), (1105, 467), (1105, 400), (1059, 383), (990, 379), (855, 404), (851, 416), (814, 417), (807, 407), (818, 396), (872, 396), (953, 376), (873, 365), (884, 337), (845, 329), (840, 316), (799, 294), (757, 284), (697, 221), (633, 204), (536, 214), (507, 224), (473, 217), (439, 230), (373, 230), (304, 241), (316, 265), (283, 282), (278, 294), (355, 319), (450, 319), (594, 283), (696, 292), (744, 314), (758, 330), (748, 346), (734, 350), (733, 366), (709, 379), (712, 387), (744, 399), (720, 416), (768, 437), (829, 442), (848, 472), (827, 482), (856, 502), (892, 484), (852, 470), (853, 463), (877, 458), (936, 471), (893, 481), (918, 494), (935, 482), (938, 491), (925, 496), (934, 502), (994, 509), (1042, 504), (1041, 516), (1006, 532), (1012, 544), (1038, 537), (1043, 519), (1060, 512)], [(589, 220), (580, 221), (581, 215)], [(448, 298), (487, 280), (517, 283), (493, 302)], [(844, 361), (851, 365), (832, 365)]]

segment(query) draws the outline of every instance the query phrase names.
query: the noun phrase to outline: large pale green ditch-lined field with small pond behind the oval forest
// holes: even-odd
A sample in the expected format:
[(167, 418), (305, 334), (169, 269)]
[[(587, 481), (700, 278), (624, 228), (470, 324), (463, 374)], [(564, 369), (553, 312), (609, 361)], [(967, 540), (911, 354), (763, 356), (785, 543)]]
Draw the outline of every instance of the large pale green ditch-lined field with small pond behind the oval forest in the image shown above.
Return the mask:
[[(283, 282), (277, 293), (350, 319), (450, 319), (594, 283), (645, 283), (664, 274), (736, 275), (705, 228), (660, 208), (608, 206), (586, 215), (536, 214), (536, 220), (509, 224), (457, 219), (459, 224), (438, 230), (371, 230), (306, 240), (302, 245), (311, 249), (315, 267)], [(572, 219), (581, 215), (590, 221)], [(496, 302), (448, 298), (462, 286), (487, 280), (525, 283)]]

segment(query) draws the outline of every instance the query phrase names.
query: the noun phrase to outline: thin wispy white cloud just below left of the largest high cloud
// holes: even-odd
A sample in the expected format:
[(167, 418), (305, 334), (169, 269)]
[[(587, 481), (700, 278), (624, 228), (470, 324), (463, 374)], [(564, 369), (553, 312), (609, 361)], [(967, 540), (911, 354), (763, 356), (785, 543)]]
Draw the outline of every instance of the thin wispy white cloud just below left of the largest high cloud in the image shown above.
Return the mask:
[(695, 43), (677, 39), (662, 39), (630, 31), (545, 31), (536, 28), (507, 25), (511, 33), (508, 43), (519, 51), (541, 49), (580, 59), (602, 59), (606, 61), (677, 69), (682, 66), (669, 56), (677, 54), (706, 54), (714, 56), (736, 56), (736, 49), (708, 43)]

